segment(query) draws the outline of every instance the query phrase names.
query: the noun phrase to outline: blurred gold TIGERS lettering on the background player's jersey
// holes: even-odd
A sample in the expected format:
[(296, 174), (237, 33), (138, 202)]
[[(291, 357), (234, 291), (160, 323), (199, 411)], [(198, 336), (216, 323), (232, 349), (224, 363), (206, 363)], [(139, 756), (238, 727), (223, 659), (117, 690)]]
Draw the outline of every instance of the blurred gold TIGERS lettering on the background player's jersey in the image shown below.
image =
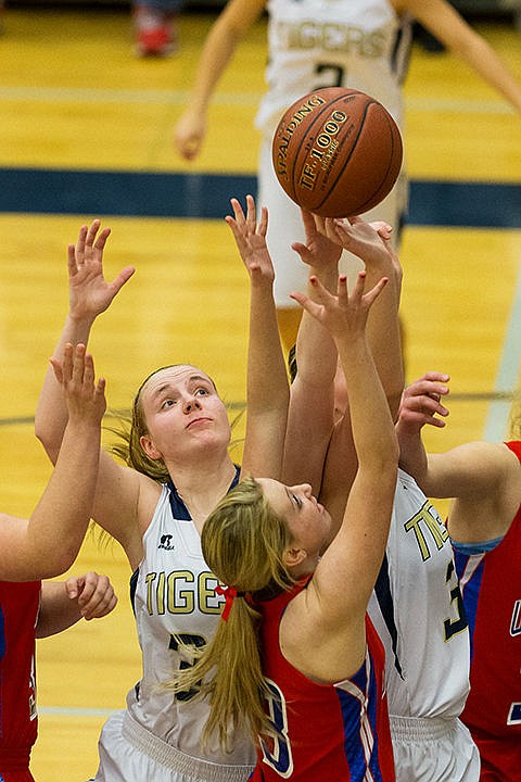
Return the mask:
[(368, 30), (358, 25), (304, 20), (277, 21), (274, 29), (281, 46), (288, 50), (322, 49), (356, 53), (365, 58), (383, 56), (386, 50), (385, 28)]

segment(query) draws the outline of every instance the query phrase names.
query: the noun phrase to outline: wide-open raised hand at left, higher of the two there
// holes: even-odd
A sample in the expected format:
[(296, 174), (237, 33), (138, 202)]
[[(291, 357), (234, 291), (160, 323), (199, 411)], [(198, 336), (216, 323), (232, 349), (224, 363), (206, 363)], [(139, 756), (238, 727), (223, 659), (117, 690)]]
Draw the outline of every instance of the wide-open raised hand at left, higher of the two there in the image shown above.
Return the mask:
[(111, 229), (100, 231), (100, 226), (99, 219), (90, 227), (81, 226), (76, 244), (67, 248), (69, 308), (76, 318), (94, 318), (104, 312), (135, 272), (132, 266), (126, 266), (112, 282), (106, 282), (103, 251)]

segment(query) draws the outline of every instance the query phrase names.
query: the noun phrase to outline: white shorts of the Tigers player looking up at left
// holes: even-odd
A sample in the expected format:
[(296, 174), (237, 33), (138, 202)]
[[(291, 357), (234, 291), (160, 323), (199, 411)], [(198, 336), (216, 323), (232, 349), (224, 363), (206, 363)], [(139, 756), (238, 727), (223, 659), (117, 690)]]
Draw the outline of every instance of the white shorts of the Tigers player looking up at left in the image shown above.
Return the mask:
[(94, 782), (245, 782), (253, 766), (221, 766), (192, 758), (142, 728), (128, 711), (103, 726)]

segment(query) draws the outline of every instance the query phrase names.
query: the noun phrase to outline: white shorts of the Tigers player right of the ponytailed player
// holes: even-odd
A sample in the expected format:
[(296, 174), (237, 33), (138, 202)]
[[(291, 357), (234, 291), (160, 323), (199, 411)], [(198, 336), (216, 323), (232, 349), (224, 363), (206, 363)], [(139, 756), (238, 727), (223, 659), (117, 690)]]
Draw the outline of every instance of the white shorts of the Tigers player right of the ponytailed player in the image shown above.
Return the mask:
[(456, 717), (390, 716), (396, 782), (478, 782), (480, 755)]

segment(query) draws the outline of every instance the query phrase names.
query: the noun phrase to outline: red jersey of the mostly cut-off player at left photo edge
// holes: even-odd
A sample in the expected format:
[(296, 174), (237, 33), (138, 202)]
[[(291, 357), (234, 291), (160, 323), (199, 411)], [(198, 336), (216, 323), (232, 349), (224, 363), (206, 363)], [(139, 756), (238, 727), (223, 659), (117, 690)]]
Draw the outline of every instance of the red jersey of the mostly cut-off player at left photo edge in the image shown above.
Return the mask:
[(36, 742), (35, 627), (40, 581), (0, 581), (0, 779), (33, 780)]

